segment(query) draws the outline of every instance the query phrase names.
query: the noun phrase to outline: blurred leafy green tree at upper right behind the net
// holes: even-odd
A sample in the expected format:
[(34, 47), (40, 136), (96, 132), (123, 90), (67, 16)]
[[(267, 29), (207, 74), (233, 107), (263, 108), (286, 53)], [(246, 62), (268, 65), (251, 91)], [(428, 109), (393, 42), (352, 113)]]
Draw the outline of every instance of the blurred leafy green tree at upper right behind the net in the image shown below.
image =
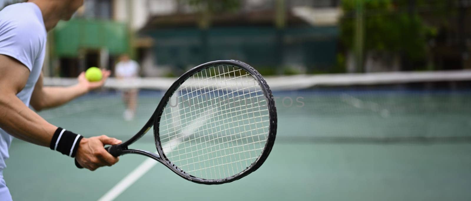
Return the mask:
[(436, 35), (436, 28), (424, 22), (417, 12), (417, 7), (426, 7), (436, 11), (436, 15), (441, 15), (445, 1), (430, 3), (427, 0), (342, 0), (344, 15), (340, 21), (341, 41), (349, 50), (353, 50), (355, 45), (355, 14), (358, 1), (363, 3), (364, 9), (362, 28), (366, 63), (368, 54), (375, 54), (376, 58), (384, 55), (399, 56), (402, 60), (411, 61), (426, 58), (427, 43)]

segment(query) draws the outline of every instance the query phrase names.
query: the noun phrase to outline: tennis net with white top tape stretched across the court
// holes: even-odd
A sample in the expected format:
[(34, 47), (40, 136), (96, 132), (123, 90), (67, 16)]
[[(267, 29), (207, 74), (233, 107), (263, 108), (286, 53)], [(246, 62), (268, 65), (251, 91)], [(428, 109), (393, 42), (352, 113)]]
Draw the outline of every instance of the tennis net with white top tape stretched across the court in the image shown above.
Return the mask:
[[(81, 134), (126, 139), (145, 124), (175, 80), (109, 79), (104, 89), (40, 115)], [(267, 76), (266, 80), (276, 98), (280, 142), (471, 142), (470, 70)], [(67, 86), (76, 80), (45, 78), (44, 83)], [(140, 89), (138, 109), (135, 119), (126, 121), (121, 95), (130, 88)]]

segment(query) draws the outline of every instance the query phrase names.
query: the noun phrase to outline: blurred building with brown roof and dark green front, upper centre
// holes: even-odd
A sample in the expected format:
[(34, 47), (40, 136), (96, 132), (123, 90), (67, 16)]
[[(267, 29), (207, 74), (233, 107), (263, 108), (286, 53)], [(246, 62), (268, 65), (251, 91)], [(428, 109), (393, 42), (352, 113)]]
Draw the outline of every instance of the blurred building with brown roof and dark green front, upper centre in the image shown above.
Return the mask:
[[(339, 0), (241, 0), (235, 10), (209, 14), (208, 22), (202, 22), (201, 10), (182, 2), (148, 0), (143, 12), (148, 21), (139, 28), (142, 17), (134, 18), (139, 35), (154, 41), (144, 61), (177, 69), (177, 74), (225, 59), (243, 60), (265, 74), (335, 65)], [(154, 73), (158, 71), (147, 71)]]

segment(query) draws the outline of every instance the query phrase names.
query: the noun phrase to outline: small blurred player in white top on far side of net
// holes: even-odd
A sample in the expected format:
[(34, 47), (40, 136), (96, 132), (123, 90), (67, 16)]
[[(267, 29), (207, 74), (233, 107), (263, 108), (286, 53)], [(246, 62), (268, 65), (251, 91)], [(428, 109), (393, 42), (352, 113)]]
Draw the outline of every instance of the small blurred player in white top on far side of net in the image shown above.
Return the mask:
[(138, 106), (138, 89), (133, 88), (133, 82), (139, 75), (139, 64), (135, 60), (130, 60), (127, 54), (120, 57), (120, 61), (114, 68), (116, 78), (122, 79), (126, 82), (129, 88), (122, 91), (122, 100), (126, 105), (126, 110), (123, 113), (124, 119), (130, 121), (134, 119), (136, 108)]

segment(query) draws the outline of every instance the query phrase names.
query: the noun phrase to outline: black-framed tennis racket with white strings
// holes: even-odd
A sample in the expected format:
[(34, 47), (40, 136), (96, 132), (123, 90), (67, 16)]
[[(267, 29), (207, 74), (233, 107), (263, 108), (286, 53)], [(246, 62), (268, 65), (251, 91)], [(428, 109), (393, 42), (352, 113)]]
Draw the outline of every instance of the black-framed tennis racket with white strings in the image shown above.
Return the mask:
[[(151, 127), (156, 153), (128, 148)], [(276, 107), (267, 82), (244, 62), (219, 60), (180, 76), (137, 134), (105, 149), (115, 157), (153, 158), (184, 179), (211, 185), (257, 170), (275, 137)]]

